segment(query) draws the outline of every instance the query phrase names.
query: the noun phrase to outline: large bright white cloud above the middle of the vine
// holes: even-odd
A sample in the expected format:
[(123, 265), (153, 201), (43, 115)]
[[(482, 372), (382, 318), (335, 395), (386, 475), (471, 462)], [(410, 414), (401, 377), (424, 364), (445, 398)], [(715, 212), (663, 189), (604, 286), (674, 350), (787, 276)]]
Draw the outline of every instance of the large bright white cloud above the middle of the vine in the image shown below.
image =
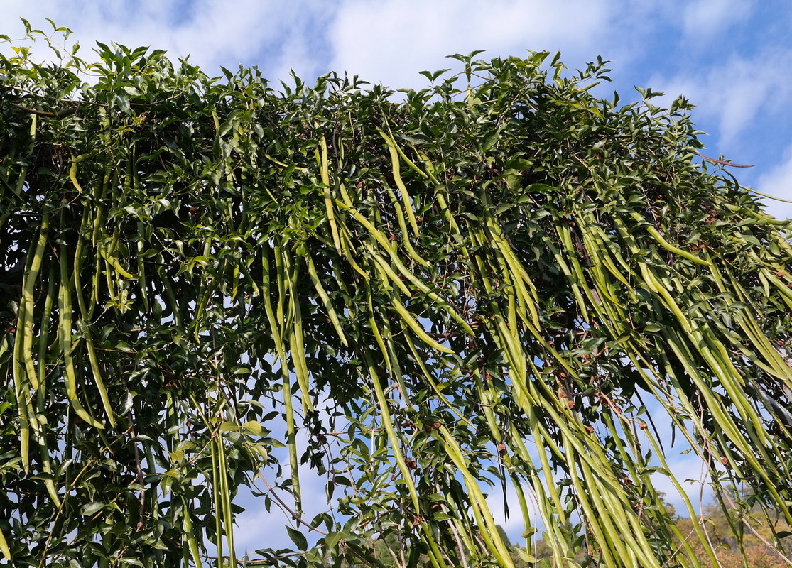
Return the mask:
[[(453, 53), (482, 57), (561, 50), (564, 60), (593, 59), (607, 30), (609, 2), (495, 0), (351, 0), (329, 32), (337, 71), (392, 87), (425, 83), (418, 71), (451, 67)], [(593, 55), (592, 55), (593, 54)]]

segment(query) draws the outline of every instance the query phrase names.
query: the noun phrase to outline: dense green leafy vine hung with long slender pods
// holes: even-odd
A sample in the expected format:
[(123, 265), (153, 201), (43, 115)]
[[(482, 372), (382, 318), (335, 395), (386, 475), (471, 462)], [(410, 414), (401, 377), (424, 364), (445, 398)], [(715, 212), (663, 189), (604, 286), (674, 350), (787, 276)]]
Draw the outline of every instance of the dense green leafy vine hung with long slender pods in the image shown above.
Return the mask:
[[(546, 53), (394, 96), (6, 48), (8, 562), (234, 565), (248, 486), (294, 541), (262, 535), (263, 563), (377, 565), (388, 539), (513, 566), (493, 484), (526, 562), (542, 530), (554, 566), (695, 566), (643, 401), (752, 495), (733, 523), (792, 520), (790, 224), (700, 163), (687, 101), (597, 98), (602, 61)], [(303, 517), (300, 463), (328, 513)]]

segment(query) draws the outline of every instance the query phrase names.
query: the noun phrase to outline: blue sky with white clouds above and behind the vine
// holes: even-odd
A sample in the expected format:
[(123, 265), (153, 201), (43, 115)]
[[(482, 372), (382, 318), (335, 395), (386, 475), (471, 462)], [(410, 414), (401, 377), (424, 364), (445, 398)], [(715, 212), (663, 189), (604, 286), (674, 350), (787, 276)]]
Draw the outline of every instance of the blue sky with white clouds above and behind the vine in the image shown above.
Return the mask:
[[(421, 88), (427, 79), (419, 71), (452, 67), (446, 55), (477, 49), (486, 50), (482, 59), (560, 51), (570, 69), (600, 55), (613, 70), (600, 96), (616, 90), (624, 103), (634, 101), (634, 86), (667, 93), (666, 103), (683, 95), (707, 133), (703, 154), (752, 164), (731, 170), (742, 185), (792, 200), (788, 0), (0, 0), (0, 8), (0, 34), (21, 37), (21, 17), (49, 29), (49, 18), (74, 32), (84, 59), (95, 41), (145, 45), (172, 59), (189, 55), (210, 75), (256, 65), (275, 86), (291, 71), (306, 82), (337, 71)], [(772, 215), (792, 217), (792, 204), (765, 203)], [(682, 479), (699, 478), (695, 463), (671, 458)], [(306, 488), (322, 501), (322, 485)], [(503, 524), (516, 540), (519, 521)], [(285, 538), (282, 525), (251, 509), (238, 545)]]

